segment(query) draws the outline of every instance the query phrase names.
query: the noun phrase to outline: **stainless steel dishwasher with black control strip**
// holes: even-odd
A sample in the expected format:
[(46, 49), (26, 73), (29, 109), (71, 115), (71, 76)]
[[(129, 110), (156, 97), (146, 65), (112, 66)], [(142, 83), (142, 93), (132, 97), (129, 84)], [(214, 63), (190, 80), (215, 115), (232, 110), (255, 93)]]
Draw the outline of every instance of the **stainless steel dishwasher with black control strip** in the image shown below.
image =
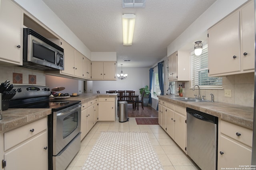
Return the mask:
[(187, 154), (202, 170), (217, 170), (218, 117), (187, 107)]

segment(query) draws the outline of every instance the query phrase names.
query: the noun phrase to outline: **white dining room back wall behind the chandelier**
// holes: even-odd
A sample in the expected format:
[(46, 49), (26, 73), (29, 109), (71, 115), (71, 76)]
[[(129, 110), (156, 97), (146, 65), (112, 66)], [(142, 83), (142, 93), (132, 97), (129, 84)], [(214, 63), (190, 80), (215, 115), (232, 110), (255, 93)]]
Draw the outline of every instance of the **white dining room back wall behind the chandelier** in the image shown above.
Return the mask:
[[(120, 74), (121, 68), (117, 69)], [(123, 68), (123, 73), (128, 74), (125, 80), (117, 81), (93, 81), (93, 93), (106, 93), (108, 90), (134, 90), (140, 94), (139, 89), (149, 86), (149, 68)]]

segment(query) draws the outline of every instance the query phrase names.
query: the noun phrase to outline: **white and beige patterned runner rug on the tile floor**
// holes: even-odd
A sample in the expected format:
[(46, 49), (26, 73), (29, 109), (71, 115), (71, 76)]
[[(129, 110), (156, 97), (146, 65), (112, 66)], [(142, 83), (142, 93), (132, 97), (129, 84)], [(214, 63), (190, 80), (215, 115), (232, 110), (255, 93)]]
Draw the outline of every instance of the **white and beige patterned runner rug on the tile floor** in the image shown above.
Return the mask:
[(147, 132), (102, 132), (81, 170), (163, 170)]

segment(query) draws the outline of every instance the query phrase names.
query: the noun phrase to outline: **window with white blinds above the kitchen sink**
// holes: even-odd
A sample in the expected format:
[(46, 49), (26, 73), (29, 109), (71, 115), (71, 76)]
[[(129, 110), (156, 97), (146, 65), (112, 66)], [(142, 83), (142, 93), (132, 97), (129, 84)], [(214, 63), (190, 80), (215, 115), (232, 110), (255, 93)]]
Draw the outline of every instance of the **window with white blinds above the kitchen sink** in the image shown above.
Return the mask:
[(202, 51), (200, 56), (192, 53), (192, 81), (191, 86), (198, 84), (200, 88), (222, 88), (221, 77), (208, 77), (208, 47)]

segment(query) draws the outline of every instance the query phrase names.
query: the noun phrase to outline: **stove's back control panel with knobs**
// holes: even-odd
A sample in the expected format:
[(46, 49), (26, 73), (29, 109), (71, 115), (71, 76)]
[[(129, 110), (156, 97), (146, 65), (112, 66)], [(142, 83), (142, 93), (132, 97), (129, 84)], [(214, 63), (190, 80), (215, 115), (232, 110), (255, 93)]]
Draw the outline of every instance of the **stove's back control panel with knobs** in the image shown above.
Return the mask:
[(48, 86), (20, 85), (14, 86), (14, 89), (16, 89), (17, 92), (16, 95), (12, 98), (12, 100), (36, 98), (51, 95), (50, 88)]

